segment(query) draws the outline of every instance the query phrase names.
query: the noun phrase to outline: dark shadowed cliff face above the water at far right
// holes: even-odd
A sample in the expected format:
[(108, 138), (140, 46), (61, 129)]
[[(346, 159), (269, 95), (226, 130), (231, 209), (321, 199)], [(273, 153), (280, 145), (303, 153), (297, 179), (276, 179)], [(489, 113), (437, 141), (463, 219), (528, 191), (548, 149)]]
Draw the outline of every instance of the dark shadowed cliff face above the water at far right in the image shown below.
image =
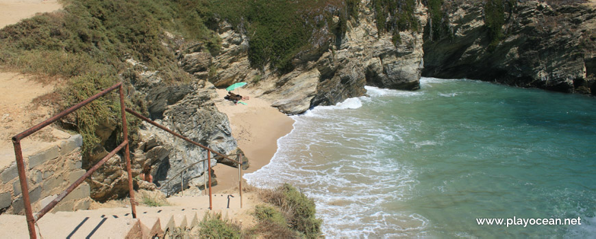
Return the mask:
[(482, 3), (473, 1), (447, 9), (453, 36), (425, 42), (423, 76), (596, 93), (593, 8), (517, 2), (506, 10), (505, 37), (494, 48), (483, 11)]

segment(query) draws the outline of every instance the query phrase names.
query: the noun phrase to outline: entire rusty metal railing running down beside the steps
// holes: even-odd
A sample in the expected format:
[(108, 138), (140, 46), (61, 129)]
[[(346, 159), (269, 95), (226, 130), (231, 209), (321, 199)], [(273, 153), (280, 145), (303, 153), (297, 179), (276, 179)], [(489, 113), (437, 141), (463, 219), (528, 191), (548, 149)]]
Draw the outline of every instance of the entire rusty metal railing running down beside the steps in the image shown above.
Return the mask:
[[(49, 126), (53, 122), (56, 122), (58, 119), (66, 116), (66, 115), (69, 115), (70, 113), (73, 113), (77, 109), (84, 107), (86, 104), (89, 104), (93, 100), (97, 100), (97, 98), (105, 96), (106, 94), (112, 92), (114, 89), (119, 89), (119, 94), (120, 94), (120, 109), (121, 109), (122, 127), (123, 127), (123, 130), (122, 130), (123, 131), (122, 132), (123, 133), (123, 142), (120, 143), (120, 145), (118, 145), (114, 150), (112, 150), (112, 152), (110, 152), (108, 155), (106, 155), (101, 160), (99, 160), (99, 162), (97, 162), (95, 165), (93, 165), (93, 167), (88, 169), (87, 172), (81, 176), (81, 178), (76, 180), (73, 184), (71, 184), (68, 188), (66, 188), (66, 190), (62, 191), (62, 193), (60, 193), (60, 195), (58, 195), (58, 197), (53, 199), (47, 206), (42, 208), (40, 210), (40, 212), (38, 212), (35, 216), (33, 216), (31, 201), (29, 199), (29, 188), (27, 186), (27, 175), (25, 173), (25, 163), (23, 162), (23, 151), (21, 150), (21, 140), (29, 135), (32, 135), (34, 132), (37, 132), (38, 130), (45, 128), (46, 126)], [(99, 169), (99, 167), (101, 167), (101, 165), (103, 165), (106, 161), (108, 161), (108, 159), (112, 158), (112, 156), (114, 156), (116, 154), (116, 152), (119, 152), (122, 149), (125, 150), (124, 157), (126, 160), (126, 171), (128, 173), (128, 189), (129, 189), (129, 196), (130, 196), (130, 206), (131, 206), (131, 210), (132, 210), (132, 218), (136, 219), (136, 204), (137, 203), (136, 203), (136, 201), (134, 201), (134, 190), (133, 190), (133, 186), (132, 186), (132, 173), (131, 173), (131, 165), (130, 165), (128, 128), (127, 128), (125, 112), (131, 113), (132, 115), (139, 117), (140, 119), (144, 120), (145, 122), (149, 122), (149, 124), (153, 124), (153, 126), (157, 126), (158, 128), (165, 130), (166, 132), (169, 132), (170, 134), (172, 134), (176, 137), (184, 139), (185, 141), (193, 143), (194, 145), (197, 145), (197, 146), (202, 147), (203, 149), (207, 150), (207, 160), (209, 162), (209, 174), (208, 175), (209, 175), (209, 208), (210, 209), (212, 209), (211, 152), (213, 152), (214, 154), (217, 154), (218, 156), (221, 156), (223, 158), (227, 158), (228, 160), (231, 160), (233, 163), (238, 164), (238, 172), (239, 172), (239, 175), (241, 175), (242, 160), (233, 160), (232, 158), (229, 158), (223, 154), (220, 154), (219, 152), (216, 152), (216, 151), (210, 149), (209, 147), (206, 147), (206, 146), (201, 145), (195, 141), (192, 141), (182, 135), (179, 135), (176, 132), (173, 132), (172, 130), (170, 130), (169, 128), (166, 128), (156, 122), (153, 122), (153, 121), (151, 121), (151, 119), (148, 119), (147, 117), (140, 115), (139, 113), (133, 111), (132, 109), (125, 107), (124, 87), (123, 87), (122, 83), (117, 83), (116, 85), (112, 85), (112, 87), (109, 87), (108, 89), (104, 89), (103, 91), (95, 94), (94, 96), (91, 96), (90, 98), (87, 98), (86, 100), (83, 100), (82, 102), (79, 102), (78, 104), (75, 104), (73, 107), (70, 107), (69, 109), (62, 111), (62, 112), (58, 113), (57, 115), (54, 115), (53, 117), (51, 117), (49, 119), (46, 119), (44, 122), (41, 122), (40, 124), (37, 124), (36, 126), (33, 126), (29, 129), (21, 132), (20, 134), (12, 137), (12, 144), (14, 146), (14, 155), (16, 157), (16, 167), (18, 170), (18, 180), (21, 183), (21, 191), (23, 194), (23, 204), (24, 204), (24, 208), (25, 208), (25, 217), (27, 218), (27, 227), (29, 229), (29, 238), (32, 238), (32, 239), (37, 238), (36, 231), (35, 231), (36, 221), (39, 221), (42, 218), (42, 216), (44, 216), (45, 214), (47, 214), (47, 212), (52, 210), (52, 208), (54, 208), (60, 201), (62, 201), (62, 199), (64, 199), (64, 197), (69, 195), (69, 193), (71, 193), (73, 190), (75, 190), (75, 188), (77, 188), (77, 186), (82, 184), (84, 182), (84, 180), (89, 178), (93, 172), (95, 172), (97, 169)], [(237, 158), (240, 159), (240, 155), (238, 155)], [(240, 207), (241, 206), (242, 206), (242, 180), (240, 178)]]

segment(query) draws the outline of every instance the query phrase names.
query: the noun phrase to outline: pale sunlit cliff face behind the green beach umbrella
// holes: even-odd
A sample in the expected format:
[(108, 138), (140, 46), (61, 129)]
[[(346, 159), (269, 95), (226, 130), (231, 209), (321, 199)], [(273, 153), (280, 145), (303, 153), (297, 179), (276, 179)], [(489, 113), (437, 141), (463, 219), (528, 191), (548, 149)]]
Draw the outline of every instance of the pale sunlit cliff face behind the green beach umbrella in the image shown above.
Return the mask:
[[(425, 6), (417, 1), (420, 25), (426, 24)], [(208, 76), (216, 87), (247, 82), (256, 96), (273, 102), (272, 106), (288, 114), (298, 114), (316, 105), (331, 105), (366, 93), (364, 85), (391, 89), (418, 89), (422, 57), (422, 33), (403, 31), (401, 42), (393, 44), (389, 33), (377, 31), (372, 3), (359, 5), (358, 19), (347, 23), (345, 35), (337, 29), (338, 17), (318, 29), (312, 48), (293, 59), (294, 70), (277, 74), (266, 66), (251, 68), (248, 59), (249, 40), (243, 29), (225, 22), (218, 33), (223, 41), (219, 55), (201, 63), (184, 59), (204, 55), (186, 51), (179, 64), (184, 69), (202, 68), (195, 76)], [(201, 66), (210, 62), (209, 70)]]

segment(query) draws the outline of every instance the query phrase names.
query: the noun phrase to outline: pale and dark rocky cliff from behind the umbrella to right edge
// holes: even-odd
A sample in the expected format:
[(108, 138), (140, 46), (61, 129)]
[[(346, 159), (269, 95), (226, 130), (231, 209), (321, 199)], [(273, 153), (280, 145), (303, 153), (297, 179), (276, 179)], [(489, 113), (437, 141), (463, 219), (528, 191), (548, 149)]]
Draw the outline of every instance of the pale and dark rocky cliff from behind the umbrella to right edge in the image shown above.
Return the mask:
[[(341, 19), (334, 13), (316, 30), (312, 47), (293, 57), (293, 70), (285, 74), (270, 66), (251, 67), (246, 29), (225, 20), (216, 30), (223, 41), (219, 54), (186, 49), (179, 64), (216, 87), (247, 82), (257, 96), (288, 114), (362, 96), (364, 85), (415, 90), (421, 75), (595, 92), (596, 20), (586, 5), (491, 1), (503, 8), (497, 17), (504, 23), (497, 27), (504, 34), (495, 40), (488, 27), (488, 3), (444, 1), (433, 12), (427, 7), (430, 1), (414, 2), (412, 15), (422, 27), (393, 33), (377, 29), (375, 1), (360, 1), (345, 32), (338, 32)], [(443, 23), (433, 25), (430, 18), (437, 12), (444, 16), (435, 19)], [(432, 26), (445, 29), (433, 31)], [(433, 37), (434, 32), (442, 34)]]

